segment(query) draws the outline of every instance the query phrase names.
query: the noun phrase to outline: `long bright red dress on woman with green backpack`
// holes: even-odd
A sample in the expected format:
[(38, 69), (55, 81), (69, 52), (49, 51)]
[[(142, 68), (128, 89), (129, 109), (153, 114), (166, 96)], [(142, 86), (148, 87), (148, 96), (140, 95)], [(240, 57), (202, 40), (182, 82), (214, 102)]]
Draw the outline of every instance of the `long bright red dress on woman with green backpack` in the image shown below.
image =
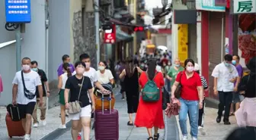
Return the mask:
[[(156, 85), (162, 93), (162, 87), (165, 85), (164, 76), (162, 73), (157, 73), (154, 79)], [(148, 82), (146, 73), (142, 73), (139, 77), (139, 85), (143, 88)], [(136, 127), (158, 127), (159, 129), (165, 128), (163, 111), (162, 111), (162, 94), (157, 102), (145, 102), (142, 97), (139, 99), (139, 107), (135, 118)]]

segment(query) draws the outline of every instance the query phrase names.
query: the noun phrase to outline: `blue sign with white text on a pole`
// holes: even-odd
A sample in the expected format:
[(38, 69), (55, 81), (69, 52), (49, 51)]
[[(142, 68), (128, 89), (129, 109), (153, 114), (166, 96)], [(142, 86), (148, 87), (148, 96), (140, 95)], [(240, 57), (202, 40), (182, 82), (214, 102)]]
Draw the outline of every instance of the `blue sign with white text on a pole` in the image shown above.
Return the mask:
[(5, 0), (5, 17), (7, 23), (30, 23), (30, 0)]

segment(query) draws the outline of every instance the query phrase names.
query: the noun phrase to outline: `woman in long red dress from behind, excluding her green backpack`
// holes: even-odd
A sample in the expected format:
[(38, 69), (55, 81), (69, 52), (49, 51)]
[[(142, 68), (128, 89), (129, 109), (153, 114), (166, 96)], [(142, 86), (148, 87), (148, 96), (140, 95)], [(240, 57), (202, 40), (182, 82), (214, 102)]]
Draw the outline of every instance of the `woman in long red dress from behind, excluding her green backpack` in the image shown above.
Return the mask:
[[(149, 79), (154, 79), (156, 86), (158, 86), (160, 93), (162, 93), (161, 89), (165, 85), (164, 76), (162, 73), (156, 73), (155, 67), (156, 61), (150, 60), (148, 70), (143, 72), (139, 77), (139, 86), (141, 86), (142, 89), (144, 88), (146, 82), (148, 82), (148, 75)], [(142, 97), (140, 97), (139, 107), (135, 119), (135, 126), (146, 127), (149, 133), (148, 140), (158, 140), (158, 129), (165, 128), (162, 112), (162, 94), (160, 94), (160, 98), (156, 102), (146, 102), (142, 100)], [(154, 138), (152, 137), (152, 127), (154, 127), (155, 130)]]

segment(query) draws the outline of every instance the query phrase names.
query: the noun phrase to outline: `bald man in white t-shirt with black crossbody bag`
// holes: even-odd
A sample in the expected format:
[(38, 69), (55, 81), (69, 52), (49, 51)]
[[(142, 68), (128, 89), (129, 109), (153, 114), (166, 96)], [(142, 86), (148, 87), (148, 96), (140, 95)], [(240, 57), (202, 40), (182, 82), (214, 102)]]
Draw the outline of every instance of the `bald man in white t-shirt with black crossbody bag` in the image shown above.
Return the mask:
[[(37, 72), (30, 70), (30, 58), (22, 59), (22, 70), (15, 74), (12, 88), (12, 104), (18, 104), (18, 110), (25, 130), (24, 140), (30, 140), (31, 122), (36, 105), (36, 90), (40, 95), (40, 106), (43, 104), (43, 87)], [(23, 76), (23, 78), (22, 78)]]

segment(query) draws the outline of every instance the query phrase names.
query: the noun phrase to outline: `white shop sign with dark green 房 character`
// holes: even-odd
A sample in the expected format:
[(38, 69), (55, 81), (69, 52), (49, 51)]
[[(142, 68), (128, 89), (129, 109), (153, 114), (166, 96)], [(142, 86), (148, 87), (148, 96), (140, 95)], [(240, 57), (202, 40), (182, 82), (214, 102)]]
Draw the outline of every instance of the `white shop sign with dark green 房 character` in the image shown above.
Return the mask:
[(234, 0), (233, 5), (234, 14), (256, 13), (255, 0)]

